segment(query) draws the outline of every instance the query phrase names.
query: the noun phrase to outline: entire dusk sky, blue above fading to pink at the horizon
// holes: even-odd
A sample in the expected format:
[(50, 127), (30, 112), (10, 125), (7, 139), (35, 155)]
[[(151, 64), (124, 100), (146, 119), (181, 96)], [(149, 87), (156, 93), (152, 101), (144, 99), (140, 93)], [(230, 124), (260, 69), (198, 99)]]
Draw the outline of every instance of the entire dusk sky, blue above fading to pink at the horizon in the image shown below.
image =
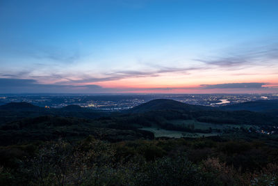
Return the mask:
[(277, 0), (0, 0), (0, 93), (278, 93), (277, 10)]

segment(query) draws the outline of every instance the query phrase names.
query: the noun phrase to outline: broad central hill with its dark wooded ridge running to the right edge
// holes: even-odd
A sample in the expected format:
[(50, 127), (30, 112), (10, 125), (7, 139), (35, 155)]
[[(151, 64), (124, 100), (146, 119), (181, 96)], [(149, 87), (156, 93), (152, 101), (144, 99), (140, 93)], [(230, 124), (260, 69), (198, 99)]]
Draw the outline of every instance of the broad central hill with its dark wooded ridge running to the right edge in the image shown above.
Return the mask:
[[(223, 109), (222, 109), (223, 108)], [(277, 123), (275, 114), (248, 110), (228, 110), (224, 107), (204, 107), (174, 100), (152, 100), (125, 112), (117, 118), (119, 123), (137, 123), (143, 126), (159, 125), (163, 129), (176, 130), (168, 121), (195, 120), (203, 123), (236, 125), (272, 125)]]

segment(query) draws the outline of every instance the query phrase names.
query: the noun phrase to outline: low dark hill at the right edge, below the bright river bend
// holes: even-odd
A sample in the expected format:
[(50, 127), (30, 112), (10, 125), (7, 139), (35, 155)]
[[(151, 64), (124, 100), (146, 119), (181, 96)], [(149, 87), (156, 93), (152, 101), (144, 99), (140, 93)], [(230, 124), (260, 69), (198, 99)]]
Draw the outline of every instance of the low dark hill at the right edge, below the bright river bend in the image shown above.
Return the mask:
[(236, 111), (236, 110), (247, 110), (247, 111), (277, 111), (278, 100), (257, 100), (254, 102), (242, 102), (238, 104), (231, 104), (222, 106), (220, 109)]

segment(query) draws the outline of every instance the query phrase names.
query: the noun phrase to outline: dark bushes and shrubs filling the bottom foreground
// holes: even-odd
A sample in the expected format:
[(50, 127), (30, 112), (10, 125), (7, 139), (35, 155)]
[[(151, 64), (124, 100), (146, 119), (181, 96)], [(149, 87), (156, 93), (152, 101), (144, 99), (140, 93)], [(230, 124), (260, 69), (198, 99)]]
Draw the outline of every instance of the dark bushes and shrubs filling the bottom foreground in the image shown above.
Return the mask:
[(111, 144), (90, 136), (78, 142), (5, 146), (0, 157), (0, 185), (278, 184), (278, 148), (258, 140), (214, 137)]

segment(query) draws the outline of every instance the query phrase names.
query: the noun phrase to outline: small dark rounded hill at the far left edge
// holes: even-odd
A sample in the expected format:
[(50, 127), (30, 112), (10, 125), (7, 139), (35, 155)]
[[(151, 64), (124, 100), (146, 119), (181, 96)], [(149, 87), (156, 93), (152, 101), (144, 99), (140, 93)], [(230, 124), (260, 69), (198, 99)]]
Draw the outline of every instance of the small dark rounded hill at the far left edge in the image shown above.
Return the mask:
[(28, 102), (10, 102), (0, 106), (1, 110), (38, 110), (44, 109)]

